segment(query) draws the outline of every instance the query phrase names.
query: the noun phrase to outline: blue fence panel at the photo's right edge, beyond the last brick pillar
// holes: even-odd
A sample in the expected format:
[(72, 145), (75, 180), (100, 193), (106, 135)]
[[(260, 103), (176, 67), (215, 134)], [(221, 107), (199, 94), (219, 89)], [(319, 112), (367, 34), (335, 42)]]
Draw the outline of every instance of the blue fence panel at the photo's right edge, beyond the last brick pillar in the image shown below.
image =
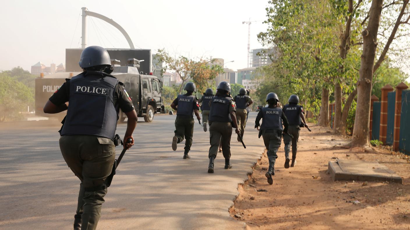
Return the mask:
[(401, 95), (399, 149), (410, 155), (410, 90), (403, 90)]

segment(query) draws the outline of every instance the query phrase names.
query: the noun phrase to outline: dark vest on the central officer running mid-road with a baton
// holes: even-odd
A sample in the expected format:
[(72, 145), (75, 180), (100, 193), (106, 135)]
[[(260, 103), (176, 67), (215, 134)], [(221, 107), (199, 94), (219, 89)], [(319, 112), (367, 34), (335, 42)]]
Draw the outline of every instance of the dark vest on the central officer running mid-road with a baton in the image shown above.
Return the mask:
[(210, 122), (232, 122), (229, 114), (229, 106), (232, 106), (231, 100), (231, 97), (212, 97), (208, 120)]

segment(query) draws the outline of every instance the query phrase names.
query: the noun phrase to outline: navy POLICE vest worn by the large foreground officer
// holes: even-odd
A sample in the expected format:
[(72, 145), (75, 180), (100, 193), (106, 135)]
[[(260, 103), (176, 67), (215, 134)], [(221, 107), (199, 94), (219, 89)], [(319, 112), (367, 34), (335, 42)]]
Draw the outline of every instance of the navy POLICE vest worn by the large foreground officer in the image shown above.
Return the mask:
[(115, 77), (96, 71), (73, 77), (61, 135), (95, 135), (113, 139), (118, 115), (114, 107), (117, 83)]

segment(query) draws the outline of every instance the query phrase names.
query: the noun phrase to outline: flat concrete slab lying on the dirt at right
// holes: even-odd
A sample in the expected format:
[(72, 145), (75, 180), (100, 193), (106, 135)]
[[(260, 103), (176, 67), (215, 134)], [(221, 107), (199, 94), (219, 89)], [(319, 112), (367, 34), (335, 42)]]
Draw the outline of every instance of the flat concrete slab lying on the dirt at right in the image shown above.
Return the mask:
[(378, 162), (337, 159), (329, 161), (328, 169), (333, 180), (381, 180), (402, 183), (399, 175)]

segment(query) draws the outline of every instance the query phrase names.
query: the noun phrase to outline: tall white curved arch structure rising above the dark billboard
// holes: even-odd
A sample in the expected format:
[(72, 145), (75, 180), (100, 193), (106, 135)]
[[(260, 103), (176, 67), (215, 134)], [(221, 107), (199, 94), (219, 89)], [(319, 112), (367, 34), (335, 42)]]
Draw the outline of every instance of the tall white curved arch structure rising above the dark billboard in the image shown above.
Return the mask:
[(82, 31), (81, 31), (81, 48), (84, 49), (87, 47), (87, 16), (95, 17), (95, 18), (100, 18), (101, 20), (106, 21), (107, 23), (113, 25), (115, 28), (117, 28), (127, 39), (128, 44), (130, 45), (131, 49), (134, 49), (134, 44), (131, 41), (130, 36), (125, 32), (125, 29), (118, 25), (118, 23), (114, 22), (114, 20), (107, 18), (104, 15), (97, 14), (95, 12), (88, 11), (86, 7), (82, 7)]

